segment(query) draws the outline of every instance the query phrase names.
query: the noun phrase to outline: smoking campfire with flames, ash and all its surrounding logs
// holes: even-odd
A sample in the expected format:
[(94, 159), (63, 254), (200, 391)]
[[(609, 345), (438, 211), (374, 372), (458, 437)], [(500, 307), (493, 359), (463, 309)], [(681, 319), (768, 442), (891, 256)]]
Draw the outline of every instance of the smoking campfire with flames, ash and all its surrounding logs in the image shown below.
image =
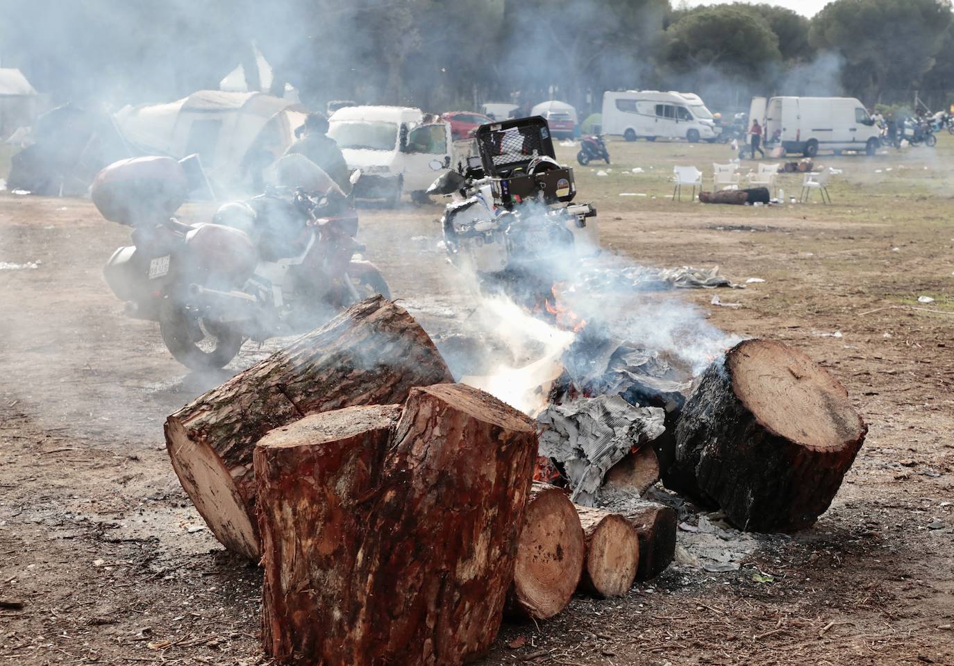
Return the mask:
[[(264, 568), (269, 656), (472, 660), (505, 614), (546, 619), (664, 571), (676, 512), (643, 496), (660, 477), (740, 529), (798, 530), (861, 447), (838, 381), (777, 342), (733, 344), (700, 373), (715, 338), (621, 339), (568, 284), (539, 311), (487, 307), (525, 339), (459, 383), (460, 359), (376, 297), (167, 420), (198, 512)], [(646, 335), (672, 343), (661, 317)]]

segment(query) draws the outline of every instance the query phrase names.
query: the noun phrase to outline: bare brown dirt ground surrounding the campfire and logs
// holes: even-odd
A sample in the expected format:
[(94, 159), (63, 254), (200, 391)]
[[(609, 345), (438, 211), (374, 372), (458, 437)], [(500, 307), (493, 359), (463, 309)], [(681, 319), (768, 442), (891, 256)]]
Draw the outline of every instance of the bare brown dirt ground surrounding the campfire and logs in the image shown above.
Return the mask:
[[(577, 169), (605, 245), (646, 265), (764, 279), (717, 292), (737, 309), (711, 305), (710, 291), (675, 297), (727, 332), (804, 350), (870, 432), (813, 529), (759, 537), (737, 572), (673, 566), (625, 597), (505, 624), (481, 663), (954, 664), (954, 138), (937, 152), (820, 158), (843, 172), (835, 203), (773, 208), (666, 197), (672, 165), (708, 172), (723, 147), (610, 148), (612, 172)], [(796, 177), (782, 185), (798, 193)], [(436, 248), (439, 214), (363, 211), (360, 234), (432, 333), (462, 307)], [(162, 422), (269, 347), (215, 376), (185, 373), (102, 279), (127, 238), (89, 201), (0, 195), (0, 262), (38, 264), (0, 270), (0, 663), (267, 663), (259, 571), (204, 528)]]

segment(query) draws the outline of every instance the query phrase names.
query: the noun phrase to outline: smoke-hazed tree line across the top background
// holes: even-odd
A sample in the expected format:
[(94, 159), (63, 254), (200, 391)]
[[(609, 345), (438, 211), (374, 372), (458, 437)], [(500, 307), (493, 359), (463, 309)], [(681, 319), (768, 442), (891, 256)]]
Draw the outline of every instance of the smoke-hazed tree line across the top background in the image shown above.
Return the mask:
[[(2, 0), (0, 62), (56, 101), (161, 102), (217, 88), (254, 43), (321, 107), (331, 99), (468, 109), (603, 91), (847, 94), (870, 106), (954, 98), (950, 0), (834, 0), (812, 19), (767, 4), (669, 0)], [(253, 68), (248, 68), (253, 69)]]

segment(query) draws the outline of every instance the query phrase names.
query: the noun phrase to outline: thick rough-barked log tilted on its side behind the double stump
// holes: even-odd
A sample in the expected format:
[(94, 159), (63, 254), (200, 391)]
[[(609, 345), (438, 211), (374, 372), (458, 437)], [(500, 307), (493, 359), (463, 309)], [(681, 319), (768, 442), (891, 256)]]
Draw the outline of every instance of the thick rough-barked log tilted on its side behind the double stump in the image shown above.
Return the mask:
[(258, 558), (252, 451), (259, 437), (307, 414), (398, 403), (412, 387), (449, 381), (427, 333), (377, 296), (169, 416), (166, 446), (212, 533)]

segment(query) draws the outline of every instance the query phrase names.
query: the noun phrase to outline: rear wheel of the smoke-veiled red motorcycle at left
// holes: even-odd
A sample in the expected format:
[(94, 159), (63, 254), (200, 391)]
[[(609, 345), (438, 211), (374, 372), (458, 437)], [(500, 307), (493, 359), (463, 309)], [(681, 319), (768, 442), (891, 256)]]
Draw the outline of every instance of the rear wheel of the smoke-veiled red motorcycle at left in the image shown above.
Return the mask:
[(198, 316), (166, 298), (159, 309), (159, 333), (173, 358), (189, 370), (219, 370), (239, 353), (242, 335)]

